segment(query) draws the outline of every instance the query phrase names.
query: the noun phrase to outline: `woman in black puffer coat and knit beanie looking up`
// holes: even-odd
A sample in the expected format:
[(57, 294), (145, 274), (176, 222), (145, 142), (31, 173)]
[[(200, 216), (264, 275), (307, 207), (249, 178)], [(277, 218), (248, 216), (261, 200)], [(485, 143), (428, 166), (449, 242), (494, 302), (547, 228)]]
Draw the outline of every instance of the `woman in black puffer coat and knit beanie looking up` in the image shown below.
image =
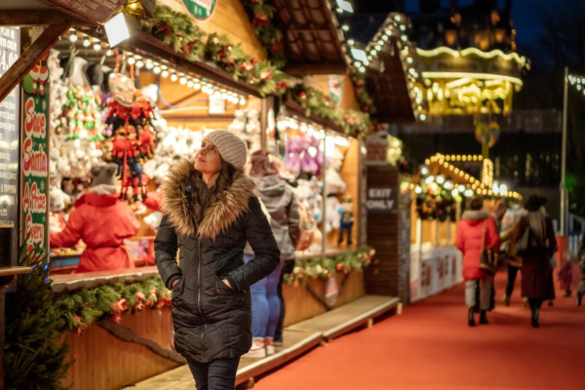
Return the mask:
[[(171, 168), (162, 188), (154, 256), (164, 284), (173, 289), (174, 346), (198, 390), (235, 387), (240, 356), (252, 346), (249, 287), (280, 261), (245, 163), (244, 141), (216, 130), (195, 161)], [(244, 264), (246, 242), (255, 257)]]

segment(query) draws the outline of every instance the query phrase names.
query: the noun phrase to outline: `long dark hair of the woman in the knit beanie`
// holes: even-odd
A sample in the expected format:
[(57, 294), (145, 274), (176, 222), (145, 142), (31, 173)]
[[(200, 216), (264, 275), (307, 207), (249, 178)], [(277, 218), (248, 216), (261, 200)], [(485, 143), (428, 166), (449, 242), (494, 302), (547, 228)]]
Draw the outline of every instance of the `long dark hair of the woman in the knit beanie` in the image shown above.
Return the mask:
[(219, 170), (218, 178), (215, 180), (214, 187), (208, 188), (207, 183), (202, 178), (201, 172), (195, 170), (191, 205), (194, 209), (197, 223), (203, 219), (205, 209), (225, 196), (226, 191), (232, 185), (233, 181), (243, 174), (243, 170), (238, 170), (238, 168), (222, 158), (221, 169)]

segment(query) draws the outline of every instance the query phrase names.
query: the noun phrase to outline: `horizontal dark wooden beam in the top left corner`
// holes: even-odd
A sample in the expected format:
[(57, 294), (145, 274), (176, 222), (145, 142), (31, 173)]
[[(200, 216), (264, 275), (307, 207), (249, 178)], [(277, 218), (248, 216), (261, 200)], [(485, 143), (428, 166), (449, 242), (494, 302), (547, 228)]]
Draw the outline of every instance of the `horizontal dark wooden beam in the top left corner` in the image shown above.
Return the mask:
[(92, 26), (95, 23), (86, 22), (56, 9), (43, 11), (4, 11), (0, 13), (0, 26)]

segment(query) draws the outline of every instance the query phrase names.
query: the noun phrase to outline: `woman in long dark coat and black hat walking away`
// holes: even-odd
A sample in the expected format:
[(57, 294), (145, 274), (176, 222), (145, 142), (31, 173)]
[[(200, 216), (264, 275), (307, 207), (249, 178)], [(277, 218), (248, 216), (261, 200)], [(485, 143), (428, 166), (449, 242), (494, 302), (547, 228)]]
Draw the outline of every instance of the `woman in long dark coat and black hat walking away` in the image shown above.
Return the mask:
[(524, 208), (528, 215), (520, 219), (518, 238), (526, 229), (531, 229), (537, 245), (525, 251), (522, 256), (522, 296), (528, 298), (532, 310), (532, 326), (538, 327), (538, 317), (543, 301), (555, 299), (555, 284), (552, 278), (550, 258), (557, 250), (555, 228), (552, 219), (545, 216), (541, 208), (546, 198), (531, 195)]

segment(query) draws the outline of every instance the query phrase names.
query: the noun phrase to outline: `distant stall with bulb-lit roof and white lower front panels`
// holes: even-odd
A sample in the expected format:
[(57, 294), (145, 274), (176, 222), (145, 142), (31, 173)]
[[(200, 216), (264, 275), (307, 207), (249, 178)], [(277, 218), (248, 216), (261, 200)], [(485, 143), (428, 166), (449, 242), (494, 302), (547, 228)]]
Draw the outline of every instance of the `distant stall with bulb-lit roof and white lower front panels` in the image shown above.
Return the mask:
[(464, 201), (474, 194), (519, 199), (493, 182), (493, 163), (483, 156), (443, 156), (425, 161), (410, 183), (412, 197), (411, 299), (417, 301), (462, 281), (462, 254), (455, 247)]

